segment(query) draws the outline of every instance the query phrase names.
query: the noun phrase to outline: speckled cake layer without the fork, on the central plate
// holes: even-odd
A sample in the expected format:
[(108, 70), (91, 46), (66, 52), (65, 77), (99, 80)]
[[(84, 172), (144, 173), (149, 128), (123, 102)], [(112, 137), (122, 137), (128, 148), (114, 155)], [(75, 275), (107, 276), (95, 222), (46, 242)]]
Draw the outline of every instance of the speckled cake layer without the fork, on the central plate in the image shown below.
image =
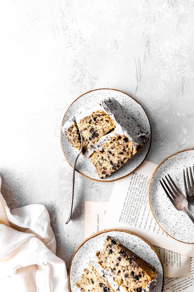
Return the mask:
[(95, 166), (99, 177), (106, 178), (127, 162), (132, 154), (133, 144), (129, 138), (112, 134), (92, 155), (91, 163)]

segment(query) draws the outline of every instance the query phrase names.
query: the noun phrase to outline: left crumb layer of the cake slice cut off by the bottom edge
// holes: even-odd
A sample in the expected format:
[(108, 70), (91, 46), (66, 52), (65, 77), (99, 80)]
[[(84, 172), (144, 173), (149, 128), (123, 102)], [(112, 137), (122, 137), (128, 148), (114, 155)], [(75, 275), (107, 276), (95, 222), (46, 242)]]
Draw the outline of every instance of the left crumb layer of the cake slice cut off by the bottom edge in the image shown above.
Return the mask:
[(80, 280), (76, 282), (76, 286), (83, 292), (115, 292), (90, 262), (86, 269), (83, 270)]

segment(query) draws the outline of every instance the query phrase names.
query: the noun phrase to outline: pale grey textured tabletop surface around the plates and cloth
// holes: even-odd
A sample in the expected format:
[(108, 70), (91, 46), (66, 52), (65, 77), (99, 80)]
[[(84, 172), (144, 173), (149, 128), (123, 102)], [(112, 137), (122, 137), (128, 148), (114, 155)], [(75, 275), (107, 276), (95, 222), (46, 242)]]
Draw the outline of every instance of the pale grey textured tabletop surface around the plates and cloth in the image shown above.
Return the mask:
[(70, 103), (95, 88), (136, 98), (152, 126), (147, 160), (194, 147), (193, 1), (52, 0), (1, 3), (0, 174), (8, 206), (44, 204), (68, 267), (83, 240), (84, 201), (113, 183), (76, 175), (60, 147)]

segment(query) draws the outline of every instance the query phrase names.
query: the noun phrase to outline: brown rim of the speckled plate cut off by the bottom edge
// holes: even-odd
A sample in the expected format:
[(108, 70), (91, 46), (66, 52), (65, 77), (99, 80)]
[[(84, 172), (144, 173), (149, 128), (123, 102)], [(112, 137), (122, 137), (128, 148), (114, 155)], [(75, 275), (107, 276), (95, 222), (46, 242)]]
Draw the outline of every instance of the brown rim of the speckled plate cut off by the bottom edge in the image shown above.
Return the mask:
[(117, 228), (113, 228), (113, 229), (106, 229), (106, 230), (102, 230), (102, 231), (99, 231), (95, 234), (92, 234), (91, 236), (87, 237), (77, 248), (76, 250), (74, 251), (73, 253), (73, 256), (71, 258), (71, 261), (70, 261), (70, 265), (69, 265), (69, 272), (68, 272), (68, 285), (69, 285), (69, 290), (70, 292), (72, 292), (71, 290), (71, 285), (70, 285), (70, 272), (71, 272), (71, 265), (72, 265), (72, 261), (74, 259), (74, 256), (75, 254), (77, 253), (77, 251), (89, 240), (89, 239), (92, 239), (96, 236), (98, 236), (99, 234), (102, 234), (102, 233), (107, 233), (107, 232), (111, 232), (111, 231), (118, 231), (118, 232), (125, 232), (125, 233), (129, 233), (129, 234), (132, 234), (132, 235), (135, 235), (137, 237), (139, 237), (140, 239), (142, 239), (143, 241), (145, 241), (151, 248), (152, 250), (156, 253), (156, 255), (158, 256), (159, 260), (160, 260), (160, 263), (161, 263), (161, 266), (162, 266), (162, 271), (163, 271), (163, 281), (162, 281), (162, 289), (161, 289), (161, 292), (163, 292), (163, 288), (164, 288), (164, 267), (163, 267), (163, 263), (162, 263), (162, 260), (161, 260), (161, 257), (158, 253), (158, 251), (156, 250), (156, 248), (153, 246), (153, 244), (151, 244), (147, 239), (145, 239), (144, 237), (142, 237), (141, 235), (135, 233), (135, 232), (132, 232), (132, 231), (129, 231), (129, 230), (126, 230), (126, 229), (117, 229)]

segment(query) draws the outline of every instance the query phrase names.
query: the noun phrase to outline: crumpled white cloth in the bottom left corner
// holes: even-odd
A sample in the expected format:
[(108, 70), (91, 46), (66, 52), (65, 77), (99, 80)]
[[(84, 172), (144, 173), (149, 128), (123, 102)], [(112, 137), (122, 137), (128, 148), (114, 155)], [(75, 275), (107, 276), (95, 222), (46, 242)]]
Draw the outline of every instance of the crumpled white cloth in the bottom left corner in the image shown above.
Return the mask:
[(10, 211), (0, 193), (0, 291), (68, 292), (65, 263), (55, 254), (47, 209), (35, 204)]

